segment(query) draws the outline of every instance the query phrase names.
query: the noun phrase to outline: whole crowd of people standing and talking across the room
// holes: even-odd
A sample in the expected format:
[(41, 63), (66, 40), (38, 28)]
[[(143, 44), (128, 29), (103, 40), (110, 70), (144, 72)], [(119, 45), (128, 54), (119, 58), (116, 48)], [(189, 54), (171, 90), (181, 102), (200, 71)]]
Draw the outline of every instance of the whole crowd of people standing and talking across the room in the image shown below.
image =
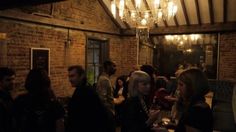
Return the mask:
[[(26, 94), (13, 99), (15, 72), (0, 68), (0, 132), (159, 132), (162, 110), (171, 111), (176, 132), (212, 132), (212, 111), (204, 73), (197, 68), (178, 71), (177, 81), (157, 75), (150, 65), (117, 77), (112, 61), (105, 61), (95, 88), (81, 66), (68, 68), (75, 91), (64, 108), (57, 101), (46, 71), (32, 69)], [(67, 112), (65, 112), (67, 111)]]

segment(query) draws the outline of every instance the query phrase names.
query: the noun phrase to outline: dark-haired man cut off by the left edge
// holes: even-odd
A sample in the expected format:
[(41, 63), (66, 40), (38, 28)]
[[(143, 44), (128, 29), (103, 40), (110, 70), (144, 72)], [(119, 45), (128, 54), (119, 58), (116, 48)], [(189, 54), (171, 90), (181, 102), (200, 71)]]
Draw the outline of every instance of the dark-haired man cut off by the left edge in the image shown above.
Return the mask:
[(14, 132), (13, 99), (10, 95), (14, 86), (14, 79), (15, 72), (12, 69), (0, 68), (0, 132)]

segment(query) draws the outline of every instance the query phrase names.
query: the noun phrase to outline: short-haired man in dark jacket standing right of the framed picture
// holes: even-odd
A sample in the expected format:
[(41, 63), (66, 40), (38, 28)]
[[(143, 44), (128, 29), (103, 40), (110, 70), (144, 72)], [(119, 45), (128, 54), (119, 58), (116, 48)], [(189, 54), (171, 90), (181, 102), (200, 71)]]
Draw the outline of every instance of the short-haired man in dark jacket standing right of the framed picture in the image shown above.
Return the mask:
[(108, 110), (98, 94), (87, 84), (81, 66), (68, 69), (69, 80), (76, 90), (68, 104), (67, 132), (113, 132)]

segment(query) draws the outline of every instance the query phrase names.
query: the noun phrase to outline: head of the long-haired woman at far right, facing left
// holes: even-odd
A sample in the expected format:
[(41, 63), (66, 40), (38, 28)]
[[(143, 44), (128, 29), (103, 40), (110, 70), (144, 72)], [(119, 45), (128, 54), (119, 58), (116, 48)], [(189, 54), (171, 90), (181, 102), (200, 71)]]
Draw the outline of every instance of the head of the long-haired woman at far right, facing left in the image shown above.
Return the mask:
[(207, 77), (199, 69), (188, 69), (178, 77), (178, 89), (185, 100), (204, 97), (209, 91)]

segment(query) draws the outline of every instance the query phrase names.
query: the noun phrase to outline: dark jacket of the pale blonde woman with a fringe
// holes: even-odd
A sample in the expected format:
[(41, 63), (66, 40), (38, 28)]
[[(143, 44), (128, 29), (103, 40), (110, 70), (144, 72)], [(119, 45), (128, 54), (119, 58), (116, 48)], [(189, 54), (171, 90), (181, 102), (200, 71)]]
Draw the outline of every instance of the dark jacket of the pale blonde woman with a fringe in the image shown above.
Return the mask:
[(128, 98), (124, 107), (122, 132), (151, 132), (146, 125), (148, 115), (143, 110), (138, 97)]

